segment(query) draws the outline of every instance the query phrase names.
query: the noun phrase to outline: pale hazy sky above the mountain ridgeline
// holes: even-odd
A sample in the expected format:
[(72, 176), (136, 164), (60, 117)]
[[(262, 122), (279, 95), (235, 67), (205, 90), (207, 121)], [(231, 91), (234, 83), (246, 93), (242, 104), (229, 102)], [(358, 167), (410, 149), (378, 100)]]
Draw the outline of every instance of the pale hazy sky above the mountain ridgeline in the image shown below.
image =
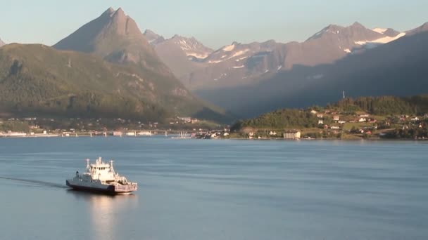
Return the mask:
[(303, 41), (330, 23), (403, 31), (428, 22), (426, 0), (23, 0), (1, 4), (0, 39), (53, 45), (110, 6), (122, 7), (141, 32), (195, 36), (212, 48)]

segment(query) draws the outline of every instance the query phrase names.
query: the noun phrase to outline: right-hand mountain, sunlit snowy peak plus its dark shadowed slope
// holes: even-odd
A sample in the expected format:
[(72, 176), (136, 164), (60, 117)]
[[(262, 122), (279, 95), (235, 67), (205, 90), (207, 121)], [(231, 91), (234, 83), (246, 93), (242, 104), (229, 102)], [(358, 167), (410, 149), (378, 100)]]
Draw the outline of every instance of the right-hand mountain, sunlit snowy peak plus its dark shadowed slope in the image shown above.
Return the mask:
[[(244, 117), (282, 107), (324, 105), (341, 98), (342, 91), (353, 97), (426, 93), (427, 39), (428, 23), (405, 33), (330, 26), (308, 41), (275, 48), (272, 53), (284, 56), (284, 67), (275, 74), (245, 86), (219, 84), (194, 92)], [(367, 48), (370, 42), (376, 48)]]

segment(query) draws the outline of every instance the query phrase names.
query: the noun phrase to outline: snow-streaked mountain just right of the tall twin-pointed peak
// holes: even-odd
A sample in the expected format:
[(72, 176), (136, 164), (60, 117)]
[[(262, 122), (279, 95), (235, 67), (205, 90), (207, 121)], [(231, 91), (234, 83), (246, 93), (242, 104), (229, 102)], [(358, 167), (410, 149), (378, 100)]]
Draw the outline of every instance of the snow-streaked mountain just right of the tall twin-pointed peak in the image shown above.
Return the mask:
[[(191, 72), (204, 67), (201, 61), (213, 52), (194, 37), (175, 35), (165, 40), (163, 36), (151, 30), (146, 30), (144, 36), (154, 46), (160, 59), (179, 79), (188, 79)], [(187, 85), (187, 81), (184, 81), (184, 84)]]

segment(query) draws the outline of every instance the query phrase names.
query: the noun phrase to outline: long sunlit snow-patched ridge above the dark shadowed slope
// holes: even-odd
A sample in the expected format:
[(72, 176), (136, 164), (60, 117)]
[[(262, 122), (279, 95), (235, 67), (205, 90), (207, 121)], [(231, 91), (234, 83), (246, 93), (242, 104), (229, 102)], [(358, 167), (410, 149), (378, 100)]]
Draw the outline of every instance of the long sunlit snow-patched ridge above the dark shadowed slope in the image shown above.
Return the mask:
[(304, 42), (238, 44), (234, 42), (203, 59), (206, 67), (189, 74), (188, 88), (203, 91), (254, 84), (296, 65), (332, 63), (352, 53), (394, 41), (405, 33), (367, 29), (358, 22), (348, 27), (329, 25)]

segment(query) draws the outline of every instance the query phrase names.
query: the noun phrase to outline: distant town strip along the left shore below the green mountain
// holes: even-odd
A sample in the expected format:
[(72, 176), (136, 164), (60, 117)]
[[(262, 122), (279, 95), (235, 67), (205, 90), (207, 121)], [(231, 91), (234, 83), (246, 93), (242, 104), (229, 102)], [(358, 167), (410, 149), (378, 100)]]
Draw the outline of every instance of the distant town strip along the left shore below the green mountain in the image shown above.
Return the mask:
[[(80, 119), (22, 117), (0, 119), (0, 138), (17, 137), (80, 137), (80, 136), (151, 136), (182, 135), (207, 138), (213, 133), (224, 136), (228, 126), (189, 116), (177, 116), (168, 123), (135, 121), (130, 119)], [(221, 133), (221, 134), (220, 134)], [(215, 134), (216, 135), (216, 134)], [(213, 135), (214, 137), (214, 135)]]

